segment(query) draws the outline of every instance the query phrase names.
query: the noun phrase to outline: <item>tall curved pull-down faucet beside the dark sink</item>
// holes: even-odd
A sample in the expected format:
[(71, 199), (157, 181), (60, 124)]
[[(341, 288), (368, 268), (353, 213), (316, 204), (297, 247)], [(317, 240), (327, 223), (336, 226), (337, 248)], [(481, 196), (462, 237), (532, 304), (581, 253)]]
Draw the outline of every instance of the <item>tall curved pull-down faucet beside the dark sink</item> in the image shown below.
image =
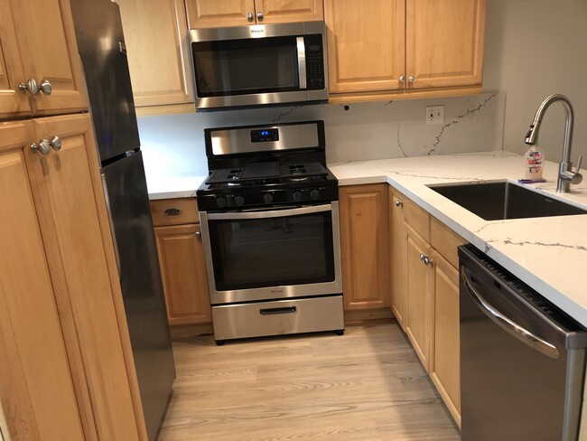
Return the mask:
[(538, 110), (536, 110), (536, 116), (530, 125), (528, 133), (526, 133), (526, 139), (524, 142), (527, 145), (535, 145), (538, 142), (538, 131), (540, 130), (542, 117), (544, 117), (546, 109), (556, 101), (559, 101), (563, 105), (564, 111), (566, 113), (566, 119), (564, 121), (563, 160), (559, 164), (556, 191), (568, 192), (572, 183), (576, 184), (582, 182), (582, 174), (579, 173), (582, 156), (579, 156), (579, 159), (577, 160), (577, 167), (574, 172), (573, 163), (571, 162), (571, 142), (573, 138), (573, 105), (571, 104), (571, 101), (569, 101), (569, 99), (564, 95), (558, 94), (554, 94), (546, 98)]

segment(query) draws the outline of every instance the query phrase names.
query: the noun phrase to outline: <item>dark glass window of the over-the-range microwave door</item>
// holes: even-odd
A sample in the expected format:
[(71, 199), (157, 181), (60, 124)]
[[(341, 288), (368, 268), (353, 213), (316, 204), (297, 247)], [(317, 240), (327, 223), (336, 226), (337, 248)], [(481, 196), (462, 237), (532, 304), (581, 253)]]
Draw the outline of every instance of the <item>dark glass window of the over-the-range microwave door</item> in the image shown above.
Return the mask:
[(194, 42), (191, 50), (200, 98), (299, 89), (295, 37)]

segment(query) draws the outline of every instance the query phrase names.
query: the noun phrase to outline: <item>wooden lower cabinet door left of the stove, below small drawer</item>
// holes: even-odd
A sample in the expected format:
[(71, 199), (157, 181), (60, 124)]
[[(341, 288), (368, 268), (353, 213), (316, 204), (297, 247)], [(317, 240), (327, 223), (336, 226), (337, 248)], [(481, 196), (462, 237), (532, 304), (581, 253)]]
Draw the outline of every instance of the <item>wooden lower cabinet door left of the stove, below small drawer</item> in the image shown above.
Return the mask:
[(156, 227), (169, 324), (210, 323), (210, 296), (200, 224)]

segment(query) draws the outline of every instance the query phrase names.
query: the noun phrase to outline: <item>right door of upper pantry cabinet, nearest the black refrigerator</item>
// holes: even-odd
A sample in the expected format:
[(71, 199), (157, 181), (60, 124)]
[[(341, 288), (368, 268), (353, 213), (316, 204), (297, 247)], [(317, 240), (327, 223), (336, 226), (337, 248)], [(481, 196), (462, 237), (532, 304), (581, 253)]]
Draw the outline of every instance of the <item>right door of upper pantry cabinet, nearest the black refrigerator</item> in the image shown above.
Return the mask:
[[(6, 0), (2, 0), (3, 4)], [(33, 114), (74, 112), (87, 108), (83, 74), (73, 32), (70, 3), (67, 0), (8, 0), (16, 43), (23, 66), (23, 79), (34, 80), (45, 93), (26, 95)], [(3, 9), (2, 20), (6, 17)], [(4, 27), (4, 24), (3, 24)]]

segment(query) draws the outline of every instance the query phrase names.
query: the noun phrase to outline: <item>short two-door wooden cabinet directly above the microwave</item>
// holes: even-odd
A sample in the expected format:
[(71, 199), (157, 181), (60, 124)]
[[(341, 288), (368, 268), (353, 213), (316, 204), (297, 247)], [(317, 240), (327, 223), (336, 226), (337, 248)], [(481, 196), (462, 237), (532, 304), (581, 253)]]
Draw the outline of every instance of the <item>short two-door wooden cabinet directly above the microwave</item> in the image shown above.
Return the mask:
[(186, 5), (190, 29), (324, 19), (321, 0), (186, 0)]

